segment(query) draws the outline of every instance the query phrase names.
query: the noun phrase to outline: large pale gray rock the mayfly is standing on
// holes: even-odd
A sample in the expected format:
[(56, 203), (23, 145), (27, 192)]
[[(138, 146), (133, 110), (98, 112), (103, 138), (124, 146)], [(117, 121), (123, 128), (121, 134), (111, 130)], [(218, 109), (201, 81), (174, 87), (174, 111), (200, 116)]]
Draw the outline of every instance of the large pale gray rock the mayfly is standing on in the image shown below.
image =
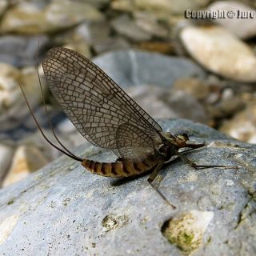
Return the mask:
[[(187, 153), (193, 161), (241, 168), (194, 170), (174, 160), (158, 180), (159, 190), (177, 206), (173, 210), (147, 176), (114, 185), (78, 162), (58, 158), (0, 191), (0, 254), (254, 255), (256, 147), (186, 120), (160, 124), (190, 130), (194, 142), (215, 141)], [(74, 153), (114, 160), (100, 152), (81, 146)]]

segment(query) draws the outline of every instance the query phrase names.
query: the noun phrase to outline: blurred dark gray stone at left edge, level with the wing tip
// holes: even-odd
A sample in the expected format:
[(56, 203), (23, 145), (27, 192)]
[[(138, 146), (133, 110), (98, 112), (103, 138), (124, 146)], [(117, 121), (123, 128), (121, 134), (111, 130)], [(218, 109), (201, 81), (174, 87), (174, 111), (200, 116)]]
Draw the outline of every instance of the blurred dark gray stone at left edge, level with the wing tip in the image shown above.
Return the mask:
[(0, 38), (0, 62), (16, 67), (35, 66), (38, 64), (42, 49), (46, 47), (48, 42), (49, 38), (43, 35), (31, 37), (2, 36)]

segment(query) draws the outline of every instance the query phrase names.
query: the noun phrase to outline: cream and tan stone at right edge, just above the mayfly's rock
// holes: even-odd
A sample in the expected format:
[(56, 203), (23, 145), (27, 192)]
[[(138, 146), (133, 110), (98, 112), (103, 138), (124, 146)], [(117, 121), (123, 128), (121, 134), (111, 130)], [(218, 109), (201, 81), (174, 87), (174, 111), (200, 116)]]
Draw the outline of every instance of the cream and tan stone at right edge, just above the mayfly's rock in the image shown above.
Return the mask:
[(242, 142), (256, 143), (256, 103), (248, 106), (227, 120), (220, 127), (223, 133), (229, 134)]

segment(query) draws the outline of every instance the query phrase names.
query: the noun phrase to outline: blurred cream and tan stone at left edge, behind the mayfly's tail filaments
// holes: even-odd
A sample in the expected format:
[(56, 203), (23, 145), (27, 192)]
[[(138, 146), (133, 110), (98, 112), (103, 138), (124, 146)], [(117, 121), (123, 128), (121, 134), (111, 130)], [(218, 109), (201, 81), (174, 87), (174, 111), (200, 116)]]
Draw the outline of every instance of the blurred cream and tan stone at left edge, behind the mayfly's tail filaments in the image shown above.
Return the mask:
[[(18, 70), (5, 63), (0, 63), (0, 69), (0, 130), (14, 129), (28, 111), (19, 85), (25, 90), (32, 108), (38, 106), (41, 101), (38, 74), (33, 67)], [(45, 88), (43, 83), (42, 86)]]

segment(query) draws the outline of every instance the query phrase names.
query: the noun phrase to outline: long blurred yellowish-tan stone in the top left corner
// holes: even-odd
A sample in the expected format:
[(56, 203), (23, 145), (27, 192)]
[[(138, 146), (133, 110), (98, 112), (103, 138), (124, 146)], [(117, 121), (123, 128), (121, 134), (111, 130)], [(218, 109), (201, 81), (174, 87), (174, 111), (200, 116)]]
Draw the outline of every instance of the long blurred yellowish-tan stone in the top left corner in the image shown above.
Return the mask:
[(50, 2), (19, 2), (2, 18), (2, 33), (54, 33), (80, 22), (97, 22), (102, 14), (90, 4), (70, 0)]

